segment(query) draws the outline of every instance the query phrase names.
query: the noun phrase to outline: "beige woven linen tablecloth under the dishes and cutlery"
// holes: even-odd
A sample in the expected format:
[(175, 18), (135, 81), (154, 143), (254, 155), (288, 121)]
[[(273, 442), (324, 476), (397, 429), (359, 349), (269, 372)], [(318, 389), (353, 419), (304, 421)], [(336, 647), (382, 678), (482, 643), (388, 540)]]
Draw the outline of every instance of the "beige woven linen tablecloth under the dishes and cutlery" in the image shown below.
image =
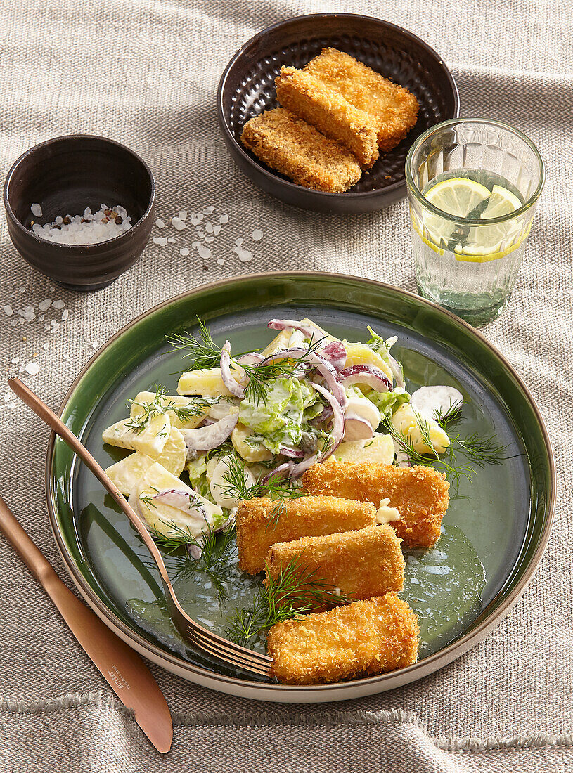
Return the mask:
[[(77, 295), (53, 289), (22, 261), (2, 217), (0, 366), (8, 376), (20, 363), (37, 360), (39, 373), (26, 380), (57, 407), (108, 336), (206, 280), (311, 269), (414, 289), (404, 202), (349, 217), (288, 208), (235, 169), (217, 129), (217, 82), (240, 44), (289, 16), (335, 9), (378, 15), (418, 33), (451, 66), (462, 114), (516, 125), (544, 156), (547, 184), (517, 288), (503, 317), (484, 332), (530, 386), (554, 442), (559, 491), (547, 554), (517, 607), (483, 643), (448, 668), (391, 693), (289, 707), (213, 693), (152, 666), (175, 723), (172, 754), (160, 758), (0, 539), (2, 771), (573, 769), (573, 30), (566, 3), (2, 2), (2, 178), (39, 141), (75, 132), (107, 135), (151, 165), (159, 216), (214, 206), (215, 215), (228, 214), (229, 223), (211, 243), (209, 259), (193, 249), (182, 257), (179, 247), (190, 242), (184, 236), (167, 247), (150, 243), (110, 288)], [(251, 240), (255, 228), (264, 234), (258, 242)], [(232, 251), (238, 237), (252, 251), (249, 263), (240, 263)], [(66, 321), (63, 309), (53, 305), (40, 321), (38, 306), (47, 298), (63, 301)], [(12, 307), (12, 317), (2, 312), (4, 305)], [(27, 305), (36, 318), (12, 325)], [(53, 332), (45, 329), (58, 323)], [(5, 401), (5, 393), (1, 387), (0, 492), (67, 581), (46, 517), (48, 432), (29, 410)]]

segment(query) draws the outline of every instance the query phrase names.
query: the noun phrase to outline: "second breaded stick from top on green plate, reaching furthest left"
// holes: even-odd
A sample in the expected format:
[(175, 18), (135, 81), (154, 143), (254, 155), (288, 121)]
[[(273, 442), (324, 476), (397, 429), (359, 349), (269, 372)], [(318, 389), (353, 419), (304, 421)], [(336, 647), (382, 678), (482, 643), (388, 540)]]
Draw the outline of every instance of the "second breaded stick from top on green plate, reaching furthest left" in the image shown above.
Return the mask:
[(271, 545), (363, 529), (376, 524), (376, 508), (370, 502), (350, 502), (336, 496), (302, 496), (285, 499), (247, 499), (237, 509), (239, 568), (249, 574), (264, 569)]

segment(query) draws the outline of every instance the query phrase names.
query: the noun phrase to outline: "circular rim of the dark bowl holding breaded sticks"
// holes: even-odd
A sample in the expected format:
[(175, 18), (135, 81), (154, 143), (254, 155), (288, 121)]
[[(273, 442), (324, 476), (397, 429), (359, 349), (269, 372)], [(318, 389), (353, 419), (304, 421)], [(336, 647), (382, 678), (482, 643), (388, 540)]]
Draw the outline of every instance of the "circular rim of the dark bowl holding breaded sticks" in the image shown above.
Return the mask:
[[(237, 49), (234, 55), (231, 56), (227, 65), (225, 66), (225, 69), (223, 70), (223, 73), (221, 74), (219, 85), (217, 86), (217, 117), (219, 119), (220, 129), (223, 132), (223, 138), (227, 142), (230, 142), (231, 145), (233, 145), (235, 150), (239, 152), (240, 157), (244, 160), (244, 162), (248, 163), (251, 169), (254, 169), (255, 171), (258, 171), (258, 172), (262, 172), (265, 179), (268, 179), (271, 182), (277, 182), (277, 181), (281, 182), (285, 185), (287, 189), (291, 189), (293, 192), (311, 190), (313, 193), (320, 194), (321, 197), (324, 197), (324, 200), (328, 201), (328, 200), (338, 200), (340, 198), (340, 194), (329, 192), (329, 191), (318, 191), (314, 189), (305, 188), (305, 186), (299, 186), (298, 183), (292, 182), (292, 180), (282, 179), (281, 177), (277, 176), (276, 172), (270, 172), (266, 166), (261, 165), (258, 162), (255, 162), (253, 158), (251, 158), (251, 156), (240, 145), (240, 142), (237, 141), (237, 138), (235, 138), (233, 132), (230, 130), (230, 125), (229, 125), (229, 122), (227, 121), (227, 115), (223, 110), (223, 89), (227, 83), (227, 77), (230, 73), (231, 68), (234, 66), (237, 60), (240, 59), (240, 56), (244, 55), (244, 52), (246, 51), (248, 46), (251, 46), (251, 43), (254, 43), (263, 35), (266, 35), (269, 32), (273, 32), (273, 31), (276, 31), (277, 29), (281, 29), (281, 27), (285, 26), (285, 24), (288, 24), (289, 22), (294, 22), (295, 19), (325, 19), (326, 17), (343, 18), (343, 19), (366, 19), (367, 21), (377, 22), (397, 32), (401, 32), (403, 35), (405, 35), (406, 37), (414, 41), (414, 43), (417, 43), (418, 45), (421, 45), (422, 48), (425, 48), (428, 51), (428, 53), (430, 53), (432, 56), (435, 56), (436, 61), (442, 66), (446, 80), (448, 81), (448, 85), (452, 90), (452, 97), (454, 100), (454, 113), (455, 113), (452, 119), (445, 119), (445, 120), (454, 120), (455, 118), (459, 117), (460, 101), (459, 101), (458, 84), (455, 82), (455, 78), (452, 75), (452, 71), (449, 69), (449, 66), (445, 63), (442, 56), (438, 54), (438, 52), (434, 48), (432, 48), (432, 46), (430, 46), (429, 43), (426, 43), (425, 40), (418, 37), (418, 35), (415, 35), (414, 32), (410, 32), (410, 30), (406, 29), (405, 27), (401, 27), (400, 25), (394, 24), (393, 22), (387, 22), (386, 19), (380, 19), (377, 16), (370, 16), (362, 13), (337, 13), (337, 12), (305, 13), (305, 14), (300, 14), (295, 16), (289, 16), (288, 19), (283, 19), (281, 22), (275, 22), (275, 24), (271, 24), (267, 27), (264, 27), (263, 29), (256, 32), (253, 36), (251, 36), (248, 40), (245, 40), (245, 42), (240, 46), (239, 49)], [(384, 189), (375, 189), (371, 191), (355, 191), (350, 193), (346, 192), (344, 196), (349, 198), (352, 197), (352, 199), (356, 201), (362, 201), (364, 198), (367, 198), (368, 196), (370, 197), (376, 196), (377, 194), (380, 194), (380, 192), (384, 192), (384, 193), (387, 192), (388, 194), (398, 192), (400, 191), (400, 189), (405, 189), (405, 185), (406, 185), (406, 177), (404, 173), (404, 179), (401, 179), (397, 182), (393, 182), (390, 186), (387, 186)]]

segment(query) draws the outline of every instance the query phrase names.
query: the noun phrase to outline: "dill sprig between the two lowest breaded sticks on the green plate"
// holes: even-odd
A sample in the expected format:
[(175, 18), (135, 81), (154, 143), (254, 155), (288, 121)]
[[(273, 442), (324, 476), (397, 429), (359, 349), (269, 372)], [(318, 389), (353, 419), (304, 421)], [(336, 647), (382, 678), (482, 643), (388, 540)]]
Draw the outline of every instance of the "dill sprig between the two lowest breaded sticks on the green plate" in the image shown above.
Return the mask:
[(316, 570), (307, 572), (299, 560), (293, 558), (281, 567), (278, 576), (268, 573), (250, 608), (235, 610), (227, 622), (226, 634), (230, 641), (248, 646), (277, 623), (292, 620), (305, 612), (323, 607), (346, 604), (349, 599), (336, 594), (336, 588), (316, 577)]

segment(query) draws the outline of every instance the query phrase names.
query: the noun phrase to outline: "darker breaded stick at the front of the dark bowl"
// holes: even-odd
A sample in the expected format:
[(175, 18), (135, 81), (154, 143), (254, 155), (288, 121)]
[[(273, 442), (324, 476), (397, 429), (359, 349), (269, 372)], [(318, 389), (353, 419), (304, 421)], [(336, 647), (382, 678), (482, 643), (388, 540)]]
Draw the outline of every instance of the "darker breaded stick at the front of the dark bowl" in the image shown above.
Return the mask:
[(347, 148), (283, 107), (247, 121), (240, 140), (265, 164), (305, 188), (342, 193), (362, 174)]

